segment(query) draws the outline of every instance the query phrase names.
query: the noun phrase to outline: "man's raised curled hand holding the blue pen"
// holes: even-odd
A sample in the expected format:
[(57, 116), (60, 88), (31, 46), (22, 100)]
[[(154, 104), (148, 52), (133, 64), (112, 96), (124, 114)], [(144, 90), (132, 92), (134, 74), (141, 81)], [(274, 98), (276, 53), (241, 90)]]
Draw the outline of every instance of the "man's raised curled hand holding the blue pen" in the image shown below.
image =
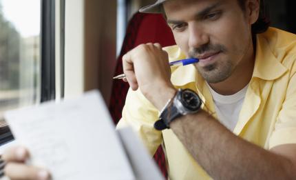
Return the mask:
[(137, 46), (123, 56), (123, 72), (132, 90), (142, 94), (160, 110), (176, 89), (171, 83), (167, 52), (159, 43)]

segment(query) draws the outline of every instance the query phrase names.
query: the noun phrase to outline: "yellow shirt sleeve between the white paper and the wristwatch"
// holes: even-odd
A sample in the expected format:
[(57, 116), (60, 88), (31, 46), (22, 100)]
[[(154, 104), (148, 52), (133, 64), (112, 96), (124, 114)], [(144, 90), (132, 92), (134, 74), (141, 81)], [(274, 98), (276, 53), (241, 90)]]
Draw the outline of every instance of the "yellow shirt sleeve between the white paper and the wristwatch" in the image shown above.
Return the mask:
[(138, 134), (151, 156), (162, 143), (162, 132), (154, 129), (158, 110), (144, 97), (140, 90), (129, 89), (123, 108), (123, 117), (116, 128), (131, 126)]

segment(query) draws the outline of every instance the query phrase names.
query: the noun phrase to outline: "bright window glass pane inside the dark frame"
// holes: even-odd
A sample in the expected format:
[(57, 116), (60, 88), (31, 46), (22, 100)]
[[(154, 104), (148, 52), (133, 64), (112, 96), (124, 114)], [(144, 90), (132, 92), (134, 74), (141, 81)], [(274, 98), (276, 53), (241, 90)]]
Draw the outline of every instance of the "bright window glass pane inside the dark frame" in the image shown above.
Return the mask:
[(40, 0), (0, 0), (0, 119), (40, 96)]

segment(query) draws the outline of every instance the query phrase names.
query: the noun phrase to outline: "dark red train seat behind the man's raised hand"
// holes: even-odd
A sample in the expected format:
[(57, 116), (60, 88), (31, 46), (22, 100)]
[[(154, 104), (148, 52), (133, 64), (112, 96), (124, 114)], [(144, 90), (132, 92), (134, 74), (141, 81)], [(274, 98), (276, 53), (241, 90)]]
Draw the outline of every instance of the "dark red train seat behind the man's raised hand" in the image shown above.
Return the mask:
[[(131, 18), (127, 26), (127, 32), (123, 41), (123, 47), (121, 48), (120, 55), (117, 59), (114, 76), (123, 73), (123, 55), (141, 43), (160, 43), (162, 47), (176, 44), (171, 29), (167, 26), (167, 23), (161, 14), (147, 14), (140, 12), (134, 14), (134, 17)], [(128, 83), (120, 80), (113, 81), (109, 111), (114, 123), (118, 123), (121, 118), (121, 112), (125, 105), (125, 97), (128, 89)], [(156, 151), (154, 159), (156, 163), (158, 163), (164, 177), (167, 178), (165, 155), (161, 147)]]

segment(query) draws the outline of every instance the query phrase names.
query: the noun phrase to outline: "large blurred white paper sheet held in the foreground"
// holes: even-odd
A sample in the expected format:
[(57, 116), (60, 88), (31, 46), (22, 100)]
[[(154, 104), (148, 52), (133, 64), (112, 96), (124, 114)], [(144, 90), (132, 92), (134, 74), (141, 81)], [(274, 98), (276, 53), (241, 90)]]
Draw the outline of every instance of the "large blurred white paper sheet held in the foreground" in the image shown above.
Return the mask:
[(135, 179), (101, 94), (7, 112), (31, 162), (55, 180)]

